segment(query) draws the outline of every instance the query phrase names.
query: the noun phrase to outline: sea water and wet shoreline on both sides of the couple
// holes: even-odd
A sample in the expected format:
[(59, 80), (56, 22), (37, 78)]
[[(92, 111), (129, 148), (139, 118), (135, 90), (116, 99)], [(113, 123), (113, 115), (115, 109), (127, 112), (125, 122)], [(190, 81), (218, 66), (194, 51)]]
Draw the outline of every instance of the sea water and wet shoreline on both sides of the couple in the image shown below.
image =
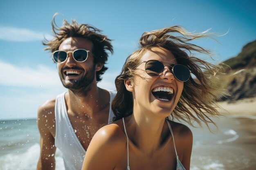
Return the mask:
[[(255, 170), (256, 134), (252, 116), (216, 120), (218, 131), (191, 128), (193, 151), (191, 170)], [(245, 128), (247, 126), (247, 128)], [(0, 120), (0, 170), (35, 170), (39, 158), (36, 119)], [(56, 170), (63, 169), (61, 152), (56, 150)]]

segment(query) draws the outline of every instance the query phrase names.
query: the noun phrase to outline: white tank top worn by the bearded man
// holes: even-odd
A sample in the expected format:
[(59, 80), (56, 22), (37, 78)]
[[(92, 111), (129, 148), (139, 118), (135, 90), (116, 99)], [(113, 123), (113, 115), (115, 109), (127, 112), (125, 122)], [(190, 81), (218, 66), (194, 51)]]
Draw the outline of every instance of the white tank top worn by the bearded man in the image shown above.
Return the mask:
[[(70, 119), (67, 115), (67, 108), (64, 97), (65, 93), (66, 92), (58, 95), (55, 102), (55, 146), (62, 152), (65, 170), (81, 170), (86, 151), (76, 136), (70, 123)], [(116, 91), (109, 91), (109, 93), (110, 110), (108, 116), (108, 124), (112, 122), (112, 118), (114, 117), (114, 113), (111, 109), (111, 102), (116, 95)]]

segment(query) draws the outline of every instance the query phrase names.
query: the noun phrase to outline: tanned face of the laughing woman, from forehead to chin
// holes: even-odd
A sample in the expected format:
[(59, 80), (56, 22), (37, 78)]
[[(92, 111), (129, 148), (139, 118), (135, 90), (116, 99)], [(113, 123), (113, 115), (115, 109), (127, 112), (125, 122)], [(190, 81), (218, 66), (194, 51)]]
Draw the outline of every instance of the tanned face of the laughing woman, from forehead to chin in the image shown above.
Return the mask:
[[(148, 60), (177, 64), (170, 51), (159, 47), (153, 47), (141, 57), (141, 62)], [(170, 63), (164, 62), (164, 64)], [(177, 80), (169, 71), (170, 66), (164, 66), (164, 68), (166, 69), (161, 75), (151, 77), (145, 71), (145, 63), (137, 67), (137, 74), (132, 82), (135, 109), (147, 110), (164, 117), (169, 116), (174, 110), (183, 90), (183, 82)]]

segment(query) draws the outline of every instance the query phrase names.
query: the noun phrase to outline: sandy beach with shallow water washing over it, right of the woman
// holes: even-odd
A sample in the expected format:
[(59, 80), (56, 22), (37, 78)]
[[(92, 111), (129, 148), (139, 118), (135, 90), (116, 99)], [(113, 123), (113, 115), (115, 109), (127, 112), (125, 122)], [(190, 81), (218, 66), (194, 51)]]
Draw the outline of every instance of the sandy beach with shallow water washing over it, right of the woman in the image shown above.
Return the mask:
[(219, 104), (218, 130), (191, 128), (191, 170), (256, 170), (256, 98)]

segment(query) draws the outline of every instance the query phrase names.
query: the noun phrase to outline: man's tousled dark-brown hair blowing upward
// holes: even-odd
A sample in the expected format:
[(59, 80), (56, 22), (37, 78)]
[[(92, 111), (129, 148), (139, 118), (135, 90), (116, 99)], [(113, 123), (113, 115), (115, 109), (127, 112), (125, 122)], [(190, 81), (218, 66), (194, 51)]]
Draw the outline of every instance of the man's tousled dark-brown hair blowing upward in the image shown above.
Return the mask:
[(101, 75), (108, 69), (104, 65), (108, 60), (107, 51), (111, 54), (113, 53), (111, 40), (108, 39), (106, 35), (101, 34), (100, 29), (88, 24), (79, 24), (76, 20), (72, 20), (72, 22), (69, 23), (64, 19), (63, 25), (59, 27), (55, 22), (56, 15), (58, 15), (58, 13), (54, 14), (51, 22), (54, 38), (49, 41), (46, 39), (43, 41), (43, 45), (48, 46), (45, 50), (50, 50), (51, 52), (57, 51), (61, 43), (70, 37), (80, 37), (90, 40), (93, 43), (92, 54), (94, 55), (94, 64), (103, 64), (101, 70), (96, 73), (97, 82), (101, 81)]

